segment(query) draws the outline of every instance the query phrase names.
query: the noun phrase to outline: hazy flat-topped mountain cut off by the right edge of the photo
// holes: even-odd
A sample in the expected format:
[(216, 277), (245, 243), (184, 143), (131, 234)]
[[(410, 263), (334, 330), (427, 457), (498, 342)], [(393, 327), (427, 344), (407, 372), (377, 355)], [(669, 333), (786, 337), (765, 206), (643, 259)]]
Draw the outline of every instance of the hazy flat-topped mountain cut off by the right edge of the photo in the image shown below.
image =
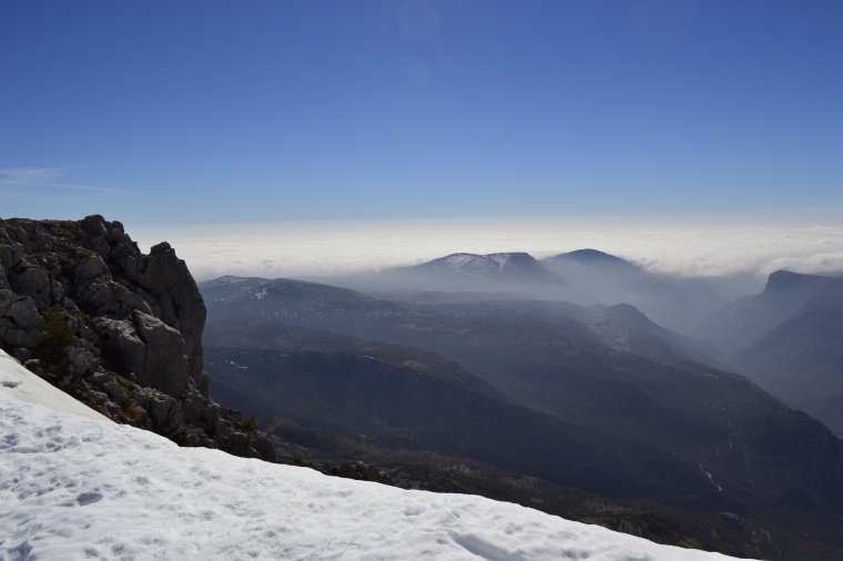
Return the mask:
[(843, 278), (778, 271), (698, 332), (789, 406), (843, 435)]

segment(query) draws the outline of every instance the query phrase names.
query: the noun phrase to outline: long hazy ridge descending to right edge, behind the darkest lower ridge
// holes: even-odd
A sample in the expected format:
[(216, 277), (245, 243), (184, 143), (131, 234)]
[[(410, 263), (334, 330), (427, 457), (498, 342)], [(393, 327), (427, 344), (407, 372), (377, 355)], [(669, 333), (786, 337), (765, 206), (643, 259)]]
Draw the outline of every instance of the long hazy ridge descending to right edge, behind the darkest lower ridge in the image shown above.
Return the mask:
[[(663, 349), (653, 361), (612, 348), (593, 325), (571, 317), (577, 309), (571, 304), (536, 304), (547, 309), (558, 305), (566, 314), (511, 304), (440, 308), (278, 280), (211, 303), (209, 313), (213, 324), (266, 322), (436, 353), (517, 405), (695, 462), (723, 492), (739, 498), (732, 512), (766, 520), (776, 531), (784, 531), (782, 523), (809, 524), (822, 536), (816, 540), (833, 541), (831, 528), (840, 523), (843, 504), (843, 443), (822, 424), (790, 410), (742, 376)], [(619, 315), (624, 314), (630, 315), (620, 308)], [(634, 325), (629, 318), (606, 317), (624, 328)], [(685, 341), (650, 336), (668, 350)]]

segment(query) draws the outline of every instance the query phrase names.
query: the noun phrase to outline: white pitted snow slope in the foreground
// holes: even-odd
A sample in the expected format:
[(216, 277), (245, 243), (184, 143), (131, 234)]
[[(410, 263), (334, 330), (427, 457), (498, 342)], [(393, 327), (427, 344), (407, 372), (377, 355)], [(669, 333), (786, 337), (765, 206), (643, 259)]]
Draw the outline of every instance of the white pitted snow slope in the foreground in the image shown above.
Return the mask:
[[(29, 385), (16, 365), (0, 360), (1, 379)], [(405, 491), (179, 448), (151, 432), (71, 415), (43, 386), (31, 384), (26, 396), (0, 392), (3, 561), (729, 559), (481, 497)]]

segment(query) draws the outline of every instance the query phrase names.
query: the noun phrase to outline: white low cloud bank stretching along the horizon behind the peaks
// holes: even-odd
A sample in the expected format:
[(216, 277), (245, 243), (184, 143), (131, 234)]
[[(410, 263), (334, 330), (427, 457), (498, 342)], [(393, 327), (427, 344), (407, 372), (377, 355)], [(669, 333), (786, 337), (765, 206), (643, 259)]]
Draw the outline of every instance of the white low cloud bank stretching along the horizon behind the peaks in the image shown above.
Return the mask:
[(199, 280), (315, 277), (415, 265), (457, 252), (537, 258), (595, 248), (676, 276), (843, 271), (843, 226), (659, 218), (437, 220), (129, 227), (141, 248), (167, 241)]

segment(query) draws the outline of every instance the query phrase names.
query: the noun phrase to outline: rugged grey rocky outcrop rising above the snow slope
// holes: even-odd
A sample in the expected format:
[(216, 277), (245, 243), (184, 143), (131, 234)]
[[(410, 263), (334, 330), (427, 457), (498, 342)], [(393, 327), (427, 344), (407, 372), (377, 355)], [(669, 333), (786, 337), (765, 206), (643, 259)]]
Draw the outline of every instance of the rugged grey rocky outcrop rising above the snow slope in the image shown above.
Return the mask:
[(207, 396), (205, 315), (166, 242), (145, 255), (99, 215), (0, 220), (0, 347), (118, 422), (274, 461), (266, 436)]

